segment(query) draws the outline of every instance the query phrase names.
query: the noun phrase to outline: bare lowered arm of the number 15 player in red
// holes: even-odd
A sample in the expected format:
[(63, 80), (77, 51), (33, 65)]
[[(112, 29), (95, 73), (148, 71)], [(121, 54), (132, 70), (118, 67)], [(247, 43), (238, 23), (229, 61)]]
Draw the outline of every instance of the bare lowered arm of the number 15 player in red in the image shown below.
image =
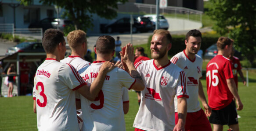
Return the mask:
[(243, 109), (243, 104), (242, 101), (240, 100), (240, 97), (238, 95), (238, 91), (236, 89), (236, 85), (234, 83), (234, 79), (226, 79), (227, 80), (227, 86), (228, 89), (230, 90), (230, 92), (232, 93), (232, 95), (234, 96), (234, 99), (236, 100), (237, 103), (237, 110), (242, 110)]

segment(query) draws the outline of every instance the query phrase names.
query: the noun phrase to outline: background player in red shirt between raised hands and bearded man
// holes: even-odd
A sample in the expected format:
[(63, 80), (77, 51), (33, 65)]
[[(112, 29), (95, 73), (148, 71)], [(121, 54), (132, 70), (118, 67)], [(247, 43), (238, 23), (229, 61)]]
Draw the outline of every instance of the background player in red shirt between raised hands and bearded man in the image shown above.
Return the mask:
[[(134, 57), (133, 64), (135, 65), (139, 61), (146, 61), (146, 60), (150, 60), (150, 59), (144, 54), (144, 48), (137, 47), (135, 49), (135, 57)], [(141, 91), (135, 91), (135, 92), (137, 93), (138, 104), (140, 106), (140, 104), (141, 104)]]

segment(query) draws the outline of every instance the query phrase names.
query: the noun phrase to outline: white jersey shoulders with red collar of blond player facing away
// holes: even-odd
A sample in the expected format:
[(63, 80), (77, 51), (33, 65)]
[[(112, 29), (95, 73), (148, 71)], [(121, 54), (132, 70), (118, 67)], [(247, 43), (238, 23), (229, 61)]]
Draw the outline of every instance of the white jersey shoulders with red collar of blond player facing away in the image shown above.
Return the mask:
[(74, 66), (77, 71), (86, 66), (90, 66), (90, 62), (87, 62), (86, 60), (77, 55), (69, 55), (69, 57), (62, 59), (61, 63), (69, 63)]

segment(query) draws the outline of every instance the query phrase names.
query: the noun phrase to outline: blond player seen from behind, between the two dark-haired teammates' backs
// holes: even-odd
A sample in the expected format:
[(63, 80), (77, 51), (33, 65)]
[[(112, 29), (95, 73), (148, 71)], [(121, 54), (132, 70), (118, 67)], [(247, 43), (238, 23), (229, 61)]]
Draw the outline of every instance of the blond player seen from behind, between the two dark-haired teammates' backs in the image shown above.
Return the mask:
[[(77, 71), (86, 66), (90, 66), (91, 63), (83, 59), (83, 56), (87, 53), (86, 33), (82, 30), (71, 31), (67, 35), (67, 40), (71, 48), (71, 55), (62, 59), (60, 62), (71, 64)], [(83, 114), (80, 109), (77, 110), (77, 115), (82, 118)], [(82, 129), (82, 125), (83, 123), (79, 121), (80, 130)]]

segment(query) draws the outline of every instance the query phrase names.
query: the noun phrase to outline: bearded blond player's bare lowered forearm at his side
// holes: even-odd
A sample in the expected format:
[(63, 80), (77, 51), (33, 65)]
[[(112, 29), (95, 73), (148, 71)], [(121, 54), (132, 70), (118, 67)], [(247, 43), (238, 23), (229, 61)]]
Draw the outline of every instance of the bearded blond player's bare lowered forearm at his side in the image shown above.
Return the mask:
[(180, 97), (177, 100), (178, 107), (178, 123), (175, 125), (173, 131), (185, 131), (185, 122), (187, 116), (187, 98)]

